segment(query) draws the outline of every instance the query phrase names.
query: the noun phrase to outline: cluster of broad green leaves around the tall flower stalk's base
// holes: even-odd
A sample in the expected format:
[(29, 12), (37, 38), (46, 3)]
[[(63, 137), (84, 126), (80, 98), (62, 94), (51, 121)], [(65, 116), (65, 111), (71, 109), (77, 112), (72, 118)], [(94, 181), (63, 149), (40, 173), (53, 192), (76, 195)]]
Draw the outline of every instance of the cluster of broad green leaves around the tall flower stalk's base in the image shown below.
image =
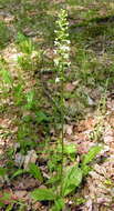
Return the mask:
[[(82, 162), (80, 165), (74, 164), (71, 167), (66, 167), (64, 171), (64, 178), (62, 180), (62, 197), (60, 195), (60, 187), (61, 187), (61, 180), (56, 175), (53, 178), (50, 178), (46, 184), (51, 188), (49, 189), (35, 189), (32, 193), (31, 197), (35, 201), (51, 201), (51, 203), (54, 202), (54, 205), (52, 207), (51, 211), (61, 211), (65, 207), (65, 197), (69, 194), (74, 194), (75, 189), (80, 187), (83, 178), (85, 178), (89, 172), (91, 171), (91, 162), (95, 159), (97, 153), (102, 150), (101, 145), (95, 145), (90, 149), (89, 153), (85, 154), (82, 158)], [(39, 174), (39, 171), (37, 170), (38, 168), (32, 167), (31, 173), (33, 177), (40, 179), (41, 173)], [(61, 175), (61, 171), (60, 171)], [(41, 178), (42, 179), (42, 178)]]

